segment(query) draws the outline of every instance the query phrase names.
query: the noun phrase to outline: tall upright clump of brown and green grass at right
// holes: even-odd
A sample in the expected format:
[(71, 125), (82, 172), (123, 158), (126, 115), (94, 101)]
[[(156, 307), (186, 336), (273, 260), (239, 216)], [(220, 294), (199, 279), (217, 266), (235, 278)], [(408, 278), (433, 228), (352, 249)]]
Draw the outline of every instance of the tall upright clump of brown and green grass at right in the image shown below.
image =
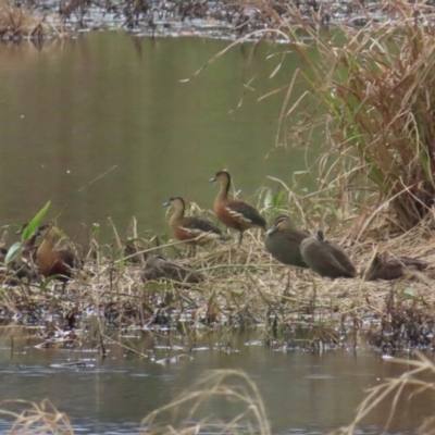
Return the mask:
[[(277, 145), (323, 147), (307, 169), (318, 175), (316, 207), (337, 216), (358, 213), (362, 233), (380, 212), (403, 232), (422, 220), (434, 226), (434, 7), (406, 0), (349, 2), (341, 18), (326, 27), (330, 2), (237, 5), (247, 14), (254, 9), (263, 25), (204, 66), (250, 38), (287, 42), (269, 58), (277, 59), (272, 79), (288, 53), (300, 55), (288, 85), (260, 99), (283, 96)], [(351, 25), (356, 12), (363, 27)], [(307, 89), (302, 94), (300, 84)]]

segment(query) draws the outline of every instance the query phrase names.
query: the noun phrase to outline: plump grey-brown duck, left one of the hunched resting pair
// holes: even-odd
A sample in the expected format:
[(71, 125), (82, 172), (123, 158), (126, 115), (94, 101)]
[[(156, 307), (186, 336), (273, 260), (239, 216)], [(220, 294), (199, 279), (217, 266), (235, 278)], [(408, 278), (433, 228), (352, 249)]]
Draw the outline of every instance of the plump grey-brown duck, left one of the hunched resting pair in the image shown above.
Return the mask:
[(295, 228), (288, 216), (277, 216), (266, 233), (264, 246), (268, 252), (284, 264), (308, 268), (300, 253), (300, 244), (310, 234)]

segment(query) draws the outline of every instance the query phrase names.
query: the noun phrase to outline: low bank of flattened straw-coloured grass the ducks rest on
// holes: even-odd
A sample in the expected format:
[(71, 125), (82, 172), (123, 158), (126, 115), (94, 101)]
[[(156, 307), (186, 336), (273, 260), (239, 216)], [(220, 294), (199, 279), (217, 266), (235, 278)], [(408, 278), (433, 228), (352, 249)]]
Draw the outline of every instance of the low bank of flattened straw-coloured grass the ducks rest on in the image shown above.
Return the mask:
[[(327, 238), (347, 249), (357, 269), (371, 260), (374, 250), (435, 261), (435, 237), (423, 226), (395, 238), (384, 231), (377, 241), (366, 237), (356, 240), (352, 228), (334, 228), (340, 236), (330, 233)], [(383, 234), (382, 228), (378, 233)], [(197, 257), (179, 260), (206, 275), (201, 284), (142, 284), (144, 256), (157, 251), (173, 254), (174, 249), (185, 252), (185, 247), (174, 241), (156, 246), (156, 238), (141, 239), (136, 234), (135, 241), (125, 248), (116, 238), (114, 247), (91, 241), (87, 272), (70, 282), (65, 293), (55, 281), (3, 285), (1, 312), (25, 325), (46, 324), (45, 315), (50, 312), (54, 321), (46, 328), (41, 346), (89, 346), (102, 353), (104, 340), (110, 338), (108, 331), (152, 330), (161, 324), (183, 324), (186, 336), (198, 324), (213, 330), (224, 326), (226, 332), (261, 325), (265, 326), (265, 339), (273, 339), (276, 346), (290, 340), (293, 335), (286, 331), (300, 325), (312, 328), (314, 348), (319, 337), (325, 341), (328, 336), (326, 341), (338, 344), (337, 334), (330, 334), (337, 325), (344, 334), (355, 328), (372, 330), (373, 344), (380, 348), (385, 345), (385, 333), (396, 334), (397, 347), (432, 343), (424, 332), (434, 315), (435, 270), (431, 266), (396, 282), (363, 282), (359, 277), (332, 281), (278, 264), (265, 252), (261, 233), (251, 231), (241, 249), (231, 239), (199, 248)], [(3, 277), (9, 273), (3, 270)]]

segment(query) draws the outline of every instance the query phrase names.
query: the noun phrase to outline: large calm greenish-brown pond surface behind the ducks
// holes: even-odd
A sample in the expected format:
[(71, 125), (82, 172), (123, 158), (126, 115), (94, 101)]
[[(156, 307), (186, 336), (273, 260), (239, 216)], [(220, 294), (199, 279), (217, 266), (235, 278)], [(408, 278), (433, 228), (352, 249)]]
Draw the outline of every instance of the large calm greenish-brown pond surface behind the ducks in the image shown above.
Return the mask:
[(161, 203), (179, 195), (212, 208), (208, 181), (223, 167), (246, 196), (277, 188), (268, 175), (289, 183), (303, 152), (265, 159), (283, 97), (257, 100), (288, 83), (298, 59), (270, 80), (281, 58), (264, 58), (281, 48), (245, 45), (181, 82), (227, 44), (94, 33), (41, 51), (0, 45), (0, 224), (25, 222), (51, 199), (50, 217), (69, 204), (59, 222), (72, 236), (109, 215), (121, 232), (133, 215), (139, 231), (166, 232)]

